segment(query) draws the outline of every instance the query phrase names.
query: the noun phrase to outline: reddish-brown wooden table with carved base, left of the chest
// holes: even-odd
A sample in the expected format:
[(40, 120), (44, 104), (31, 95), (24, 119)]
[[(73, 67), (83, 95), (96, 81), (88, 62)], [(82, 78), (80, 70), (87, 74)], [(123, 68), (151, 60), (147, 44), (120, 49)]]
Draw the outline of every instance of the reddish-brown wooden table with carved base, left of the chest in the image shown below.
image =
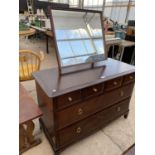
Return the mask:
[(41, 140), (33, 136), (33, 119), (42, 116), (42, 112), (26, 89), (19, 84), (19, 151), (20, 154), (33, 146), (40, 144)]

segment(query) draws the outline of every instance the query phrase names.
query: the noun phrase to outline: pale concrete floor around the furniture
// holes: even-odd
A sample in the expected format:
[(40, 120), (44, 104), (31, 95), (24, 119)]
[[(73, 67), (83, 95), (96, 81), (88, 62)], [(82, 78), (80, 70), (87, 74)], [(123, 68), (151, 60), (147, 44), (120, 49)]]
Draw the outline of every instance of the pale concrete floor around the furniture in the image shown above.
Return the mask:
[[(56, 55), (54, 48), (49, 43), (49, 54), (46, 54), (45, 40), (20, 39), (20, 49), (30, 49), (35, 52), (43, 51), (45, 59), (42, 62), (41, 69), (56, 67)], [(36, 89), (34, 80), (22, 82), (24, 87), (31, 93), (37, 103)], [(134, 92), (130, 101), (130, 113), (127, 119), (120, 117), (97, 133), (77, 142), (63, 151), (62, 155), (121, 155), (123, 151), (129, 148), (135, 142), (135, 96)], [(34, 120), (34, 135), (41, 138), (42, 143), (23, 155), (54, 155), (53, 150), (39, 129), (38, 119)]]

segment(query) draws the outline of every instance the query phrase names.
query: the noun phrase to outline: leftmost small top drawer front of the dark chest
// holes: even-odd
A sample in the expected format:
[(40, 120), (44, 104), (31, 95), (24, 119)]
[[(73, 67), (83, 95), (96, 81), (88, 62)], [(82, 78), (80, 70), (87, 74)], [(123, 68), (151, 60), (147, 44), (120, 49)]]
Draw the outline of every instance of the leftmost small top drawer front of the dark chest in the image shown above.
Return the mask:
[(74, 91), (65, 95), (56, 97), (57, 109), (65, 108), (81, 100), (81, 91)]

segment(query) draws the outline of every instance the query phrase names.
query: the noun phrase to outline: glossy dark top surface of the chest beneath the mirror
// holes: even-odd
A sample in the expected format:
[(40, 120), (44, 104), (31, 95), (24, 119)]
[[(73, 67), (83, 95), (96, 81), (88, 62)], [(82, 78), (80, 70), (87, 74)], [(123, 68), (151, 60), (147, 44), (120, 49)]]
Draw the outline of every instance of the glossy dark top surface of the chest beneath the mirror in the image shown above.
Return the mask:
[[(102, 64), (102, 62), (100, 62)], [(56, 97), (91, 85), (99, 84), (134, 72), (134, 66), (108, 59), (103, 62), (106, 67), (94, 68), (77, 73), (59, 75), (58, 68), (33, 73), (36, 81), (48, 97)], [(53, 92), (53, 90), (56, 90)]]

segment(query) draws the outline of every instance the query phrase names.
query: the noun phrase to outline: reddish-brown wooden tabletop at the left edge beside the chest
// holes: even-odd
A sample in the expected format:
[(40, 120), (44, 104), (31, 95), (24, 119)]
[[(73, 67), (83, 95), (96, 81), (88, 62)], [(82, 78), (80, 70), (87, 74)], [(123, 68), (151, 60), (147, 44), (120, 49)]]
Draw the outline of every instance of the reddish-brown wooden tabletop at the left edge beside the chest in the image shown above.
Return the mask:
[(19, 84), (19, 124), (38, 118), (41, 115), (42, 112), (33, 98), (23, 85)]

